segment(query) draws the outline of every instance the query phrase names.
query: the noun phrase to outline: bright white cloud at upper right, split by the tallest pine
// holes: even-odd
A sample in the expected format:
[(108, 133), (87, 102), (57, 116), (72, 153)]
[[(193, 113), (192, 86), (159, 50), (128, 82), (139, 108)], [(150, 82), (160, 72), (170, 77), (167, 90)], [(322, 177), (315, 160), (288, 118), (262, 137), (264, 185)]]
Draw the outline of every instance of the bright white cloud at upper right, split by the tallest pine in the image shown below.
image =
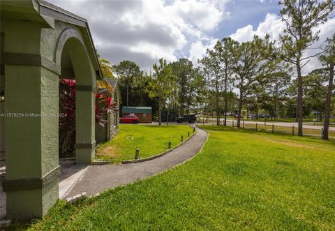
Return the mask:
[[(237, 31), (230, 35), (230, 38), (239, 41), (240, 43), (246, 42), (253, 39), (254, 35), (258, 35), (261, 38), (264, 38), (268, 33), (272, 40), (279, 39), (279, 35), (283, 33), (285, 29), (285, 23), (281, 21), (281, 18), (274, 14), (267, 14), (265, 20), (258, 24), (258, 28), (253, 30), (253, 26), (247, 25), (246, 27), (242, 27), (237, 29)], [(325, 22), (325, 24), (320, 24), (318, 28), (314, 28), (313, 31), (320, 30), (318, 42), (315, 42), (310, 49), (306, 50), (304, 53), (304, 57), (311, 56), (313, 54), (317, 54), (320, 52), (320, 45), (324, 43), (326, 38), (330, 38), (333, 33), (335, 33), (335, 18), (332, 18)], [(311, 70), (315, 68), (321, 68), (321, 64), (318, 61), (317, 57), (312, 58), (306, 66), (302, 69), (302, 74), (306, 75)]]

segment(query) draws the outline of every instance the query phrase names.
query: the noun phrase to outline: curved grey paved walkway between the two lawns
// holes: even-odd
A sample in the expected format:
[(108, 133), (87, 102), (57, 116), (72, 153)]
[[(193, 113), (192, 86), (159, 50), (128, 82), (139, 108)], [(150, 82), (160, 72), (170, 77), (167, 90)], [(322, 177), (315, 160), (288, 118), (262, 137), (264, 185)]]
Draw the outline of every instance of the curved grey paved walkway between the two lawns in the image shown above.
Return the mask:
[(198, 133), (193, 135), (184, 144), (173, 149), (165, 156), (142, 163), (130, 163), (126, 165), (91, 165), (87, 172), (78, 179), (63, 198), (70, 198), (79, 193), (87, 195), (101, 193), (109, 188), (129, 184), (138, 179), (144, 179), (151, 175), (168, 170), (175, 165), (187, 161), (195, 156), (207, 140), (207, 132), (197, 128)]

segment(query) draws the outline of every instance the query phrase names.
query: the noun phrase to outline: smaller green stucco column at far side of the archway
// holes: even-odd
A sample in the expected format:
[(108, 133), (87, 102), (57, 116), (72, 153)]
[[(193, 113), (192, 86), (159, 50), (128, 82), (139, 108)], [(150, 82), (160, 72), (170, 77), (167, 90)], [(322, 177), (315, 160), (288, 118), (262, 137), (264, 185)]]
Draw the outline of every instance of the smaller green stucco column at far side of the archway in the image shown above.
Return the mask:
[(95, 155), (95, 94), (92, 87), (76, 86), (75, 158), (77, 164), (90, 164)]

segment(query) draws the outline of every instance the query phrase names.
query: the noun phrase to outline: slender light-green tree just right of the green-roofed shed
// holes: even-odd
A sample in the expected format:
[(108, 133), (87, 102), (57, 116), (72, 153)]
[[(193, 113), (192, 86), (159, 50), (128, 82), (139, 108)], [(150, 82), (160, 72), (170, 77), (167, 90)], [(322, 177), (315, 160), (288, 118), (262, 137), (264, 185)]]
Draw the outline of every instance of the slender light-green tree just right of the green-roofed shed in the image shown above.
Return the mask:
[(159, 59), (158, 64), (154, 64), (154, 75), (148, 86), (147, 91), (151, 98), (158, 98), (158, 122), (159, 125), (162, 124), (162, 104), (165, 102), (169, 94), (169, 89), (167, 88), (170, 78), (172, 75), (171, 66), (166, 64), (165, 59)]

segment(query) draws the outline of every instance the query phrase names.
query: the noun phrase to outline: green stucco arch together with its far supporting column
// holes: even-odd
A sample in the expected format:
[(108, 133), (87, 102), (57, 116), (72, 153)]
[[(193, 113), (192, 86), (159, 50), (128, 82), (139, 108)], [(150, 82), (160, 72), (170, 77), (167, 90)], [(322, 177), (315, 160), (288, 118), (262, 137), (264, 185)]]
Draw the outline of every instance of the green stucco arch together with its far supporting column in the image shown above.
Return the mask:
[(59, 38), (55, 61), (61, 66), (61, 79), (75, 79), (75, 158), (91, 163), (95, 147), (96, 79), (82, 38), (66, 29)]

